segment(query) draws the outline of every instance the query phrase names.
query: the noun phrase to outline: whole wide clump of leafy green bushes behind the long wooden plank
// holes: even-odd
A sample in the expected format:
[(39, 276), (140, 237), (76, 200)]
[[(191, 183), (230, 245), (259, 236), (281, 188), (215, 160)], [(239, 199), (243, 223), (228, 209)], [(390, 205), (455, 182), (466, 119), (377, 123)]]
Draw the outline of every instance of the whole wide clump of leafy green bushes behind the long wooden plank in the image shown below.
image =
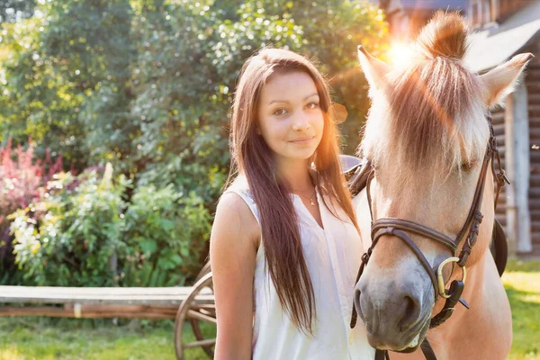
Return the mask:
[[(103, 173), (103, 174), (102, 174)], [(210, 215), (193, 193), (131, 183), (112, 166), (61, 173), (11, 215), (25, 284), (167, 286), (196, 274)]]

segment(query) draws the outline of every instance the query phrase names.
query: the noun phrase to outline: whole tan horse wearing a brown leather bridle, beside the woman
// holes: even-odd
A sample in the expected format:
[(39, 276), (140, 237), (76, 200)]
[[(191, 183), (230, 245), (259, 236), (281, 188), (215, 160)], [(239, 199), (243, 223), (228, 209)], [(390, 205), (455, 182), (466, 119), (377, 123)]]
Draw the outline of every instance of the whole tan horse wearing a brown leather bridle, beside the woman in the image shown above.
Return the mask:
[(392, 360), (506, 359), (511, 347), (509, 299), (489, 251), (505, 180), (489, 110), (532, 54), (474, 74), (468, 35), (460, 15), (439, 12), (400, 63), (358, 47), (372, 104), (358, 147), (369, 181), (354, 198), (367, 248), (354, 302), (369, 344)]

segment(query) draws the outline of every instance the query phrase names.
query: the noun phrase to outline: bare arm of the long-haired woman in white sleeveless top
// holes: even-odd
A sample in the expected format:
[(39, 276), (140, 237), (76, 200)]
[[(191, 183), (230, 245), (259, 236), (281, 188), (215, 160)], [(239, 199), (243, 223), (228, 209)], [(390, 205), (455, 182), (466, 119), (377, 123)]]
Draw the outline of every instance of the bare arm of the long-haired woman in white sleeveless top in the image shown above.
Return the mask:
[(221, 196), (211, 229), (210, 262), (216, 297), (217, 360), (251, 359), (253, 277), (260, 228), (236, 193)]

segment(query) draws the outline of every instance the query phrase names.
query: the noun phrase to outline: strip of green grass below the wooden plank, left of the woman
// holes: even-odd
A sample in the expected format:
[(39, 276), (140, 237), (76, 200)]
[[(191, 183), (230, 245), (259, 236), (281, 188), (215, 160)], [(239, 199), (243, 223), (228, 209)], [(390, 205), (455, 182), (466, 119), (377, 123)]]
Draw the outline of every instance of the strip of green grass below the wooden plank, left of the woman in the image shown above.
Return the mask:
[[(190, 326), (185, 329), (186, 339), (193, 341)], [(115, 326), (112, 320), (0, 318), (0, 360), (174, 360), (173, 334), (169, 320)], [(189, 349), (185, 356), (209, 359), (199, 348)]]

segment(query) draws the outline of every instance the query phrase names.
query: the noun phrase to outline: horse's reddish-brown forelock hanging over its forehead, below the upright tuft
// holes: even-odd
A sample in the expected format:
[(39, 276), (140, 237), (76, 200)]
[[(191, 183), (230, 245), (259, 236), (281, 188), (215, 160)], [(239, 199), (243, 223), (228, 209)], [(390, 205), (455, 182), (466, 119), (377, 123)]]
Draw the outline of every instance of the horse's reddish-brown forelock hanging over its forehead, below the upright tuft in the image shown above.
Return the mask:
[(435, 58), (412, 67), (392, 89), (389, 136), (408, 166), (459, 168), (485, 149), (481, 88), (457, 61)]

